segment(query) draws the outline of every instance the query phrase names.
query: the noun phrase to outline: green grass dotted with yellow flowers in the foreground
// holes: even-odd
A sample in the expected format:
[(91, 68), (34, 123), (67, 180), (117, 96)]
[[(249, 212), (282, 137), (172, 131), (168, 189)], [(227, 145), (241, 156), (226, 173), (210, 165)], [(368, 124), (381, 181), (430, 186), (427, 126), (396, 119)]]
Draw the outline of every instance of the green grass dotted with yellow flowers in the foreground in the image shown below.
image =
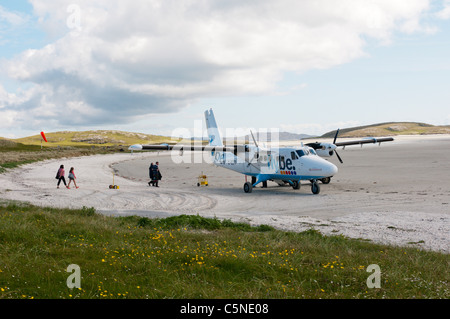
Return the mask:
[[(81, 288), (66, 271), (80, 266)], [(369, 289), (371, 264), (381, 288)], [(0, 206), (0, 298), (449, 298), (449, 256), (181, 215)]]

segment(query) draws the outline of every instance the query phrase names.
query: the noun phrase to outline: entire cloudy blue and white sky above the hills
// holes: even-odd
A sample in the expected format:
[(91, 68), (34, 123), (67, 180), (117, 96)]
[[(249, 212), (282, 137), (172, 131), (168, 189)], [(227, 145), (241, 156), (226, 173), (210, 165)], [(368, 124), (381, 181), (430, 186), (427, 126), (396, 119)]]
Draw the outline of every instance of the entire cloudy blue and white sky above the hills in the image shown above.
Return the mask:
[(450, 125), (450, 0), (1, 0), (0, 136)]

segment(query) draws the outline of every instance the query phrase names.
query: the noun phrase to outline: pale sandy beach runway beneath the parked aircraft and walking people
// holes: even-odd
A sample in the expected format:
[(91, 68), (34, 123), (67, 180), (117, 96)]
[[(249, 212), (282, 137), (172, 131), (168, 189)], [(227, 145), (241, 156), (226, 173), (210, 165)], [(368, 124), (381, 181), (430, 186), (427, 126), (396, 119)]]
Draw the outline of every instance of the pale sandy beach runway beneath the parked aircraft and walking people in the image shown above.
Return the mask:
[[(321, 193), (269, 182), (243, 192), (245, 177), (210, 164), (175, 164), (168, 152), (48, 160), (0, 174), (0, 198), (53, 207), (94, 207), (109, 215), (199, 214), (279, 229), (342, 234), (450, 252), (450, 136), (400, 136), (381, 147), (347, 147), (330, 158), (338, 174)], [(160, 162), (160, 187), (148, 186)], [(75, 167), (79, 189), (56, 188), (60, 164)], [(114, 182), (120, 189), (109, 189)], [(208, 187), (197, 177), (208, 176)], [(67, 176), (67, 174), (66, 174)]]

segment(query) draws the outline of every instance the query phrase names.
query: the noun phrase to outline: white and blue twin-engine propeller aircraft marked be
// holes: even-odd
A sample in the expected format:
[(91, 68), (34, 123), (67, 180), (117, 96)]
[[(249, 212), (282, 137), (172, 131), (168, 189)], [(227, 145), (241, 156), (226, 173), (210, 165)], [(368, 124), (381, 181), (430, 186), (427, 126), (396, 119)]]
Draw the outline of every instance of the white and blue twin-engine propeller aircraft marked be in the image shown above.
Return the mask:
[[(320, 156), (330, 157), (336, 154), (336, 147), (382, 143), (392, 141), (392, 138), (370, 139), (353, 142), (336, 143), (337, 134), (333, 144), (310, 143), (300, 147), (272, 147), (264, 148), (258, 145), (253, 133), (255, 145), (224, 145), (212, 109), (205, 111), (206, 127), (208, 131), (208, 145), (140, 145), (129, 147), (131, 151), (144, 150), (174, 150), (174, 151), (205, 151), (210, 152), (213, 164), (227, 168), (238, 173), (250, 176), (251, 182), (244, 184), (244, 191), (251, 193), (253, 188), (267, 181), (273, 181), (280, 186), (289, 184), (294, 189), (300, 189), (301, 181), (310, 181), (311, 192), (320, 193), (318, 181), (329, 183), (331, 177), (337, 172), (337, 167)], [(320, 156), (319, 156), (320, 155)]]

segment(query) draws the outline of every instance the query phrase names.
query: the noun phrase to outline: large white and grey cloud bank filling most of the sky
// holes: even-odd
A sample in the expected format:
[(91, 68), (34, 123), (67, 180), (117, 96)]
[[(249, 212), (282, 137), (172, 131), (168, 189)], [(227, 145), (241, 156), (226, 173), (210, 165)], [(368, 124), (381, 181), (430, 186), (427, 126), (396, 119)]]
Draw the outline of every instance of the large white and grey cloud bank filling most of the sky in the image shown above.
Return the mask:
[(429, 9), (426, 0), (30, 2), (55, 40), (5, 65), (32, 84), (3, 106), (28, 127), (129, 122), (204, 97), (274, 94), (285, 71), (348, 63), (366, 55), (367, 37), (423, 31)]

